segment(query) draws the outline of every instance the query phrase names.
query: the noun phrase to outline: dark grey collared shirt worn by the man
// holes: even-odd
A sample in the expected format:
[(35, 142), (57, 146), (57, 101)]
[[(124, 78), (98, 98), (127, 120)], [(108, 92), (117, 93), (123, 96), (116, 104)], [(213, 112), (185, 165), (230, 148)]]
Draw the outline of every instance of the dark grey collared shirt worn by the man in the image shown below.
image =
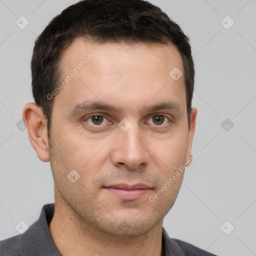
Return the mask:
[[(23, 234), (0, 241), (0, 256), (61, 256), (49, 233), (54, 203), (42, 207), (40, 217)], [(162, 228), (164, 256), (214, 256), (184, 241), (173, 239)], [(215, 255), (216, 256), (216, 255)]]

